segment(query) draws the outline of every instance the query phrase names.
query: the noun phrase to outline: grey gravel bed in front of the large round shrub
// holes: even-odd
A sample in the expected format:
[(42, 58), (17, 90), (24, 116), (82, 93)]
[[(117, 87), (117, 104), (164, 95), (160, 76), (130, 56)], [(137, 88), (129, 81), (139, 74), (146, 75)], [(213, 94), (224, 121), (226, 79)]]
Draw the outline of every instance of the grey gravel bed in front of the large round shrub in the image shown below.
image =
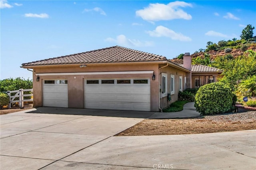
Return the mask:
[(240, 123), (256, 123), (256, 111), (248, 111), (242, 113), (227, 113), (222, 115), (204, 116), (204, 119), (214, 122), (240, 122)]

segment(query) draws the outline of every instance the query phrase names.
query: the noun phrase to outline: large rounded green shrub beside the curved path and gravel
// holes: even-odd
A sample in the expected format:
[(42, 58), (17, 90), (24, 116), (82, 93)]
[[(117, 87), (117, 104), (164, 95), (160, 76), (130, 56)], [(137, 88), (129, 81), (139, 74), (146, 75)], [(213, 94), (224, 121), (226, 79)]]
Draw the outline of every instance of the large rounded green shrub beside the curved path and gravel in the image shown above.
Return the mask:
[(231, 89), (224, 83), (206, 84), (196, 93), (196, 111), (202, 115), (225, 113), (232, 109), (233, 97)]

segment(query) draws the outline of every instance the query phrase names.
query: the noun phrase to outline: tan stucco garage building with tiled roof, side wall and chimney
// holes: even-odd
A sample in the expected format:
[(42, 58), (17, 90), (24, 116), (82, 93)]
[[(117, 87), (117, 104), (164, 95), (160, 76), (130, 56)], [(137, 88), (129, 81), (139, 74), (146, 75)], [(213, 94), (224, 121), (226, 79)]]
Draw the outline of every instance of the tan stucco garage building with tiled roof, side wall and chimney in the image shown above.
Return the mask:
[(160, 111), (192, 87), (186, 57), (182, 67), (164, 56), (114, 46), (21, 67), (33, 69), (34, 106)]

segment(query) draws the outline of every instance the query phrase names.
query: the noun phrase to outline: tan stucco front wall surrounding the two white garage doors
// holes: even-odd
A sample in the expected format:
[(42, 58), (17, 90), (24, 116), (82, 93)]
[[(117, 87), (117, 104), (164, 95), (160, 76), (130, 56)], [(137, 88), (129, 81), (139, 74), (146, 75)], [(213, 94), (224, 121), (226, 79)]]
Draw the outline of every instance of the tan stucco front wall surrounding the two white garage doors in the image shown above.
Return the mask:
[[(134, 64), (134, 65), (87, 65), (68, 67), (35, 67), (33, 74), (34, 106), (43, 106), (42, 82), (44, 79), (68, 80), (68, 107), (84, 108), (84, 79), (92, 78), (149, 78), (150, 79), (150, 103), (151, 111), (158, 111), (158, 64)], [(152, 80), (152, 74), (118, 74), (118, 75), (47, 75), (40, 76), (36, 81), (36, 73), (70, 73), (70, 72), (101, 72), (101, 71), (154, 71), (156, 80)]]

